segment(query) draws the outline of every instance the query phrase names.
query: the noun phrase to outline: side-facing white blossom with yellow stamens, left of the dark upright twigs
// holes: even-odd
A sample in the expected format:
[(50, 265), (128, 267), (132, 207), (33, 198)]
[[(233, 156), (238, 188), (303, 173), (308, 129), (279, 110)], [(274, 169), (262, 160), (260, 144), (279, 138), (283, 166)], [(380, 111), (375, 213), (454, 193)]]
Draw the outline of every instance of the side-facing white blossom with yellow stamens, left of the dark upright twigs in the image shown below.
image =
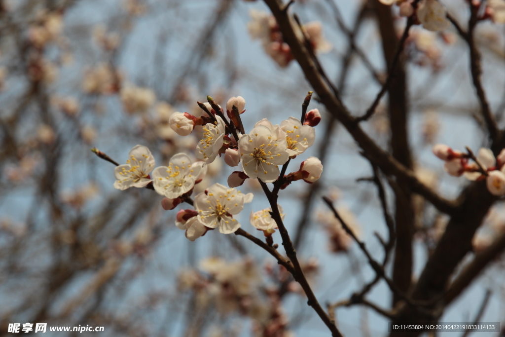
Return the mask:
[(196, 158), (206, 164), (216, 159), (224, 143), (225, 123), (219, 116), (216, 116), (216, 119), (217, 123), (207, 123), (204, 126), (204, 139), (201, 139), (196, 146)]

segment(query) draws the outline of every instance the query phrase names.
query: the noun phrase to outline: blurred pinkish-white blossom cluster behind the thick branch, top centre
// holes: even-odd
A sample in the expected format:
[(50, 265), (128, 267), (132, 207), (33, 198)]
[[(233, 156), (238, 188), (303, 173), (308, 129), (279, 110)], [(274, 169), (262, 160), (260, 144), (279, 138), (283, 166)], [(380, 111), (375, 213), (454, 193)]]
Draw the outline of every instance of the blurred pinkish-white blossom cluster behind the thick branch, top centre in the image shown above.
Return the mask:
[[(279, 66), (287, 67), (294, 57), (289, 45), (282, 39), (274, 16), (257, 10), (251, 10), (249, 14), (252, 20), (247, 27), (251, 38), (261, 40), (265, 52)], [(331, 50), (331, 44), (323, 36), (323, 27), (320, 22), (309, 22), (301, 29), (316, 53), (327, 53)]]

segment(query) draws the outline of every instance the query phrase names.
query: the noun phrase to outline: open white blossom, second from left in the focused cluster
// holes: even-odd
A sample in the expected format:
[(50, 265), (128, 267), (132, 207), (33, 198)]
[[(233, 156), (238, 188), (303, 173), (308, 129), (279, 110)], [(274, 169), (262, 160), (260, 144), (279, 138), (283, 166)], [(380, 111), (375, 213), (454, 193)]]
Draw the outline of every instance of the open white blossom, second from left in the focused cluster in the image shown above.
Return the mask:
[(167, 166), (157, 167), (153, 171), (153, 183), (158, 194), (175, 199), (193, 188), (200, 175), (201, 163), (192, 163), (184, 154), (174, 155)]

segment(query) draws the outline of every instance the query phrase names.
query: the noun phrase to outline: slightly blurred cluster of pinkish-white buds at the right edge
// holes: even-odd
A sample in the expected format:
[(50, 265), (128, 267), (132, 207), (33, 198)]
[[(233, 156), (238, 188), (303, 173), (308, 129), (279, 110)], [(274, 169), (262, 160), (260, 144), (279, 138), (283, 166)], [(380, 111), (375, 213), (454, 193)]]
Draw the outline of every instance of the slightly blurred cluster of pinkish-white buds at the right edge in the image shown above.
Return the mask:
[(470, 154), (452, 150), (443, 144), (435, 145), (433, 153), (445, 161), (444, 170), (450, 175), (464, 175), (472, 181), (485, 179), (492, 195), (505, 196), (505, 149), (495, 157), (490, 149), (481, 148), (473, 162), (470, 162)]

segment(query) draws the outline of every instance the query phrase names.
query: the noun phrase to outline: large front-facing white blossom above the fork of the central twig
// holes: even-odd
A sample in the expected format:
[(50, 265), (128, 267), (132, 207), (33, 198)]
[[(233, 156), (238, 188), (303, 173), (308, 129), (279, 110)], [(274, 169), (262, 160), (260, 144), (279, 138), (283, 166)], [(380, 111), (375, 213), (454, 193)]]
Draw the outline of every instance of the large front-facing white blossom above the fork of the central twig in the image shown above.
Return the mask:
[(267, 119), (238, 140), (242, 168), (249, 178), (260, 178), (264, 182), (273, 182), (279, 176), (279, 165), (287, 162), (286, 134), (278, 125), (273, 126)]

